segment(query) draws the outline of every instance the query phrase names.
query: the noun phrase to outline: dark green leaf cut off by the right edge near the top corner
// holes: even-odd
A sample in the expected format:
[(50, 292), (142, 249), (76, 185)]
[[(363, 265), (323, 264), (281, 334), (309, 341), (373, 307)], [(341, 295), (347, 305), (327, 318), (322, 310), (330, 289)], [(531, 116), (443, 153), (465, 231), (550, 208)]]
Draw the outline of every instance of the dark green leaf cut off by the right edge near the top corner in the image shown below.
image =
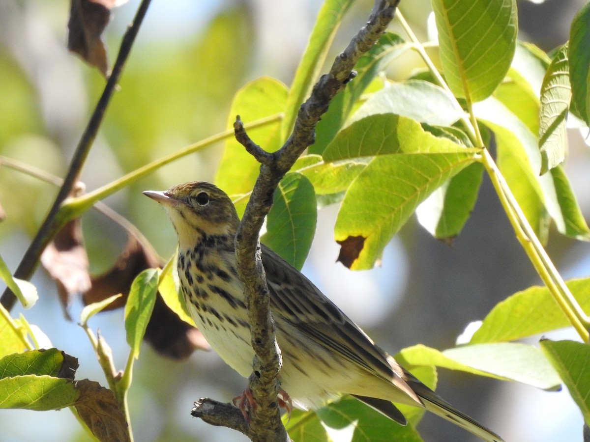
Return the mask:
[(572, 111), (590, 125), (590, 3), (586, 3), (573, 18), (569, 31), (569, 81), (572, 85)]

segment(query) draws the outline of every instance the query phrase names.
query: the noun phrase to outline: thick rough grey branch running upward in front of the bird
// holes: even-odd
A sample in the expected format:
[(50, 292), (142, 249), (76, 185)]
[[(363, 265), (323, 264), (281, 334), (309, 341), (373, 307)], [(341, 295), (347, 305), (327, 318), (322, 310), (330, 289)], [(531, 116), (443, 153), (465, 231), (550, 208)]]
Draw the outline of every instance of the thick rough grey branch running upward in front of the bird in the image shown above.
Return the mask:
[(238, 273), (245, 286), (252, 346), (256, 353), (249, 386), (258, 407), (251, 416), (251, 431), (248, 434), (255, 441), (289, 440), (277, 406), (277, 393), (280, 390), (277, 375), (281, 367), (281, 354), (269, 311), (268, 286), (260, 259), (258, 234), (273, 204), (273, 194), (278, 183), (301, 153), (314, 143), (315, 128), (320, 117), (327, 111), (332, 98), (355, 77), (354, 65), (385, 32), (398, 3), (399, 0), (382, 1), (375, 8), (365, 27), (336, 57), (330, 72), (322, 75), (313, 87), (311, 96), (301, 105), (297, 114), (293, 133), (276, 153), (266, 153), (250, 140), (239, 117), (234, 124), (236, 139), (261, 163), (260, 175), (235, 239)]

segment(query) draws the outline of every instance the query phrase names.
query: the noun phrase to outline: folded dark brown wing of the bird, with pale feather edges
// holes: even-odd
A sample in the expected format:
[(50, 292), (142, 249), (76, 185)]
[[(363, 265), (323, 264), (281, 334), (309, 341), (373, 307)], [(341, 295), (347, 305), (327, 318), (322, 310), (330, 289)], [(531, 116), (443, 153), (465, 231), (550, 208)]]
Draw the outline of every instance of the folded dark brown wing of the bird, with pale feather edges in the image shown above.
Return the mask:
[(393, 382), (418, 404), (421, 401), (405, 382), (406, 372), (363, 332), (309, 279), (261, 245), (273, 315), (280, 315), (302, 334), (342, 355), (358, 367)]

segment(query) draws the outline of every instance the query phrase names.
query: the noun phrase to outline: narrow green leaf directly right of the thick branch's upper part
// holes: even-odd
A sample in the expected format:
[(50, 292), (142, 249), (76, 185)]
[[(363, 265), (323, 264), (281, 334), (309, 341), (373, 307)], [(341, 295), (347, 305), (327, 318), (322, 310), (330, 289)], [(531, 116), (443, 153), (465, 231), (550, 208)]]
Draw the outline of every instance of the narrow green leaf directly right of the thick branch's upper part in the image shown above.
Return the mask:
[[(371, 84), (386, 65), (410, 48), (404, 39), (392, 32), (386, 32), (373, 47), (360, 57), (355, 65), (356, 77), (346, 88), (333, 98), (330, 107), (323, 114), (316, 127), (316, 140), (309, 147), (310, 153), (321, 154), (334, 139), (336, 133), (344, 126), (360, 95)], [(391, 112), (388, 111), (388, 112)], [(359, 120), (360, 118), (356, 118)]]

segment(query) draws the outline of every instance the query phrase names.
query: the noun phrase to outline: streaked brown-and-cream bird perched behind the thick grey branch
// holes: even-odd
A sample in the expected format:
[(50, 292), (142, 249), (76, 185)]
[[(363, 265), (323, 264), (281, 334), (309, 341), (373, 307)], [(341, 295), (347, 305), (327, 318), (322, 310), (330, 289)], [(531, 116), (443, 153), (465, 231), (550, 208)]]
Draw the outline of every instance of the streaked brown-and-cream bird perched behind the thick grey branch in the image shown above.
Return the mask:
[[(234, 204), (225, 192), (207, 182), (143, 193), (166, 209), (178, 234), (177, 271), (195, 324), (224, 362), (248, 378), (254, 350), (235, 258), (240, 219)], [(278, 375), (283, 399), (307, 410), (350, 394), (402, 425), (407, 420), (393, 403), (414, 405), (486, 442), (503, 441), (375, 345), (303, 273), (273, 250), (260, 247), (283, 357)]]

